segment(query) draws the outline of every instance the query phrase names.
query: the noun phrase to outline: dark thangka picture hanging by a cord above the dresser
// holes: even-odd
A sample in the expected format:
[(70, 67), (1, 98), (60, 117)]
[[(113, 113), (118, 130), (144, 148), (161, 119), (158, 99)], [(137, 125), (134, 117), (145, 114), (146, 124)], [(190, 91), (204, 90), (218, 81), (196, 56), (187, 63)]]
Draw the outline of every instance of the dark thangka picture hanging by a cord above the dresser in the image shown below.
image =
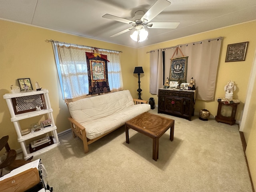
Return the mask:
[(188, 57), (172, 58), (170, 66), (170, 81), (187, 82)]

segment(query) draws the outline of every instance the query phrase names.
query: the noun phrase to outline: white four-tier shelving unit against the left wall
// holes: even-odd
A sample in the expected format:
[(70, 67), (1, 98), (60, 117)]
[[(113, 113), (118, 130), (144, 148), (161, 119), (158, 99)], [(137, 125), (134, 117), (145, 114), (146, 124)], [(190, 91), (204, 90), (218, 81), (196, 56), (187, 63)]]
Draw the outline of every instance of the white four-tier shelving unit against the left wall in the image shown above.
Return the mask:
[[(36, 95), (40, 95), (36, 96)], [(34, 102), (34, 99), (29, 99), (30, 96), (36, 96), (37, 98), (41, 98), (40, 101), (42, 101), (41, 104), (41, 108), (42, 110), (36, 111), (35, 109), (33, 109), (33, 105), (32, 106), (28, 106), (30, 103)], [(25, 106), (24, 111), (22, 111), (22, 109), (18, 109), (17, 107), (17, 103), (15, 106), (15, 102), (13, 102), (13, 100), (17, 101), (17, 98), (26, 98), (24, 99), (25, 102), (23, 103), (23, 106)], [(22, 152), (24, 154), (24, 159), (28, 159), (31, 156), (36, 156), (38, 154), (41, 154), (43, 152), (46, 152), (56, 146), (58, 146), (60, 144), (59, 139), (58, 139), (58, 134), (57, 134), (57, 127), (54, 123), (54, 118), (52, 115), (52, 108), (51, 108), (51, 104), (50, 104), (50, 100), (49, 100), (49, 96), (48, 96), (48, 90), (44, 89), (44, 90), (40, 90), (40, 91), (31, 91), (31, 92), (20, 92), (20, 93), (10, 93), (10, 94), (4, 94), (4, 99), (7, 102), (10, 114), (11, 114), (11, 121), (14, 124), (15, 130), (17, 132), (17, 136), (18, 136), (18, 142), (20, 143), (20, 146), (22, 148)], [(26, 107), (28, 106), (28, 107)], [(29, 110), (28, 110), (29, 109)], [(19, 110), (19, 112), (17, 112)], [(33, 111), (31, 111), (33, 110)], [(29, 112), (27, 112), (29, 111)], [(20, 114), (18, 114), (20, 113)], [(29, 134), (26, 135), (21, 135), (21, 128), (20, 128), (20, 124), (19, 121), (23, 120), (23, 119), (27, 119), (27, 118), (32, 118), (35, 116), (40, 116), (40, 115), (44, 115), (47, 114), (48, 119), (51, 119), (52, 121), (52, 125), (46, 127), (43, 130), (40, 130), (38, 132), (30, 132)], [(36, 152), (32, 152), (30, 153), (29, 148), (26, 146), (26, 140), (29, 140), (31, 138), (35, 138), (37, 136), (46, 134), (46, 133), (52, 133), (53, 136), (53, 140), (54, 140), (54, 144), (44, 147)]]

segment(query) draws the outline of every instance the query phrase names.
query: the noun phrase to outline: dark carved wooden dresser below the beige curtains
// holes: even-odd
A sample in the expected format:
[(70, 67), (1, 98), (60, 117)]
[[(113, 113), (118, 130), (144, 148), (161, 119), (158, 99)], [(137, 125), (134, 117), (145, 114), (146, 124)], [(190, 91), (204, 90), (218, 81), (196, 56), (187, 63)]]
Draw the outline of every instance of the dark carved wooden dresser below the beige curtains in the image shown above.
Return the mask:
[(158, 90), (158, 113), (178, 116), (191, 121), (194, 116), (196, 90)]

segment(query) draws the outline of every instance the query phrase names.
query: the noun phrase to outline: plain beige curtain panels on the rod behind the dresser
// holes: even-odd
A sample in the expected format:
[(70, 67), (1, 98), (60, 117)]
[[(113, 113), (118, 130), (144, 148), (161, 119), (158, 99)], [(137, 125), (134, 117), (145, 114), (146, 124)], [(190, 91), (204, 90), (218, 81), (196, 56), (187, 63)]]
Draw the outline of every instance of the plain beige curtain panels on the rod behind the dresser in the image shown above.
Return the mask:
[[(190, 82), (192, 77), (194, 78), (198, 90), (197, 99), (199, 100), (214, 100), (221, 43), (222, 38), (216, 38), (215, 40), (202, 40), (180, 47), (184, 56), (188, 56), (187, 82)], [(175, 48), (165, 50), (165, 78), (169, 77), (170, 59), (174, 50)], [(178, 57), (181, 56), (178, 55)]]

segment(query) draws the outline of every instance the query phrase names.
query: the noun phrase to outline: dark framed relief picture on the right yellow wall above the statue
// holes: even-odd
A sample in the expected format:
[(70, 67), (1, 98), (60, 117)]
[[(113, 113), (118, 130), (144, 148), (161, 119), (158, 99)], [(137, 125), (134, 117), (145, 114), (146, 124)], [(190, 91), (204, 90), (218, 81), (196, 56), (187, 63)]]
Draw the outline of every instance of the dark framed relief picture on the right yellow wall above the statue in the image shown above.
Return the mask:
[(229, 44), (225, 62), (244, 61), (248, 43), (249, 42), (247, 41), (242, 43)]

